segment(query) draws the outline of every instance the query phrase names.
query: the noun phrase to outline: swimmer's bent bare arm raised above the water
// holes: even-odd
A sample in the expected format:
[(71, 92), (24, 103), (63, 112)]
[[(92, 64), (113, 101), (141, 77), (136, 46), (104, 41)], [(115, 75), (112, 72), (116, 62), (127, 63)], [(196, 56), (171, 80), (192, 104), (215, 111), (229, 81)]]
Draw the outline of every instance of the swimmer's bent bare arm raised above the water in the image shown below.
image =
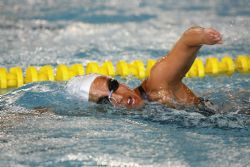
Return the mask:
[(186, 30), (169, 54), (153, 66), (146, 81), (148, 89), (157, 90), (178, 85), (192, 66), (201, 46), (220, 43), (220, 33), (212, 28), (193, 27)]

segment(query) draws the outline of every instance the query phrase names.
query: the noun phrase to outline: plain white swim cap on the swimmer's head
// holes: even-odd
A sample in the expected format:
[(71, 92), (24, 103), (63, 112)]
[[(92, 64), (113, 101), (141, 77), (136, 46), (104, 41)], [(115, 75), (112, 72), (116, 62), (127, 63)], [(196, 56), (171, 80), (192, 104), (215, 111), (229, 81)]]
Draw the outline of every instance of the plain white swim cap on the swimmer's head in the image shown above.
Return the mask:
[(81, 100), (88, 101), (90, 86), (98, 76), (101, 75), (89, 74), (74, 77), (67, 82), (66, 89), (71, 95), (78, 97)]

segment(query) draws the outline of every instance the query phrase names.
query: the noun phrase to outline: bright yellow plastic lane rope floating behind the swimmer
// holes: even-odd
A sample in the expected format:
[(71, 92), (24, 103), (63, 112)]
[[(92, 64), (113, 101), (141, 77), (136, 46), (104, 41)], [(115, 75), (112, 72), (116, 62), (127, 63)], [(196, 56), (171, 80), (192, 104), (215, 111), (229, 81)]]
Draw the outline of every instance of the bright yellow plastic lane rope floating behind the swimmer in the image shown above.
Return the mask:
[[(73, 64), (71, 66), (59, 64), (56, 69), (53, 69), (51, 65), (42, 67), (29, 66), (24, 70), (25, 75), (19, 66), (10, 69), (0, 67), (0, 88), (15, 88), (31, 82), (67, 81), (74, 76), (91, 73), (112, 77), (119, 75), (124, 78), (134, 76), (142, 80), (150, 75), (150, 70), (155, 63), (156, 60), (148, 59), (146, 66), (141, 60), (133, 60), (130, 63), (120, 60), (116, 63), (116, 67), (111, 61), (103, 63), (93, 61), (89, 62), (86, 67), (82, 64)], [(205, 60), (205, 63), (201, 58), (196, 58), (186, 77), (231, 76), (235, 72), (250, 73), (250, 56), (238, 55), (235, 59), (230, 56), (224, 56), (221, 59), (209, 57)]]

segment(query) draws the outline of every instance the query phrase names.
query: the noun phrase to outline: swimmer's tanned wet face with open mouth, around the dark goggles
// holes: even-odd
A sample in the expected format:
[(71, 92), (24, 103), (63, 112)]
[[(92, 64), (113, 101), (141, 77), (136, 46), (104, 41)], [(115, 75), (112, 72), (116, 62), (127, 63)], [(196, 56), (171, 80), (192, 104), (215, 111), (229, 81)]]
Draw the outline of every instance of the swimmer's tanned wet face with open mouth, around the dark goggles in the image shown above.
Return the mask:
[[(107, 97), (110, 93), (108, 80), (110, 78), (100, 76), (95, 79), (90, 88), (90, 100), (97, 102), (102, 97)], [(111, 104), (115, 107), (139, 108), (144, 103), (140, 96), (128, 86), (119, 83), (118, 88), (109, 98)]]

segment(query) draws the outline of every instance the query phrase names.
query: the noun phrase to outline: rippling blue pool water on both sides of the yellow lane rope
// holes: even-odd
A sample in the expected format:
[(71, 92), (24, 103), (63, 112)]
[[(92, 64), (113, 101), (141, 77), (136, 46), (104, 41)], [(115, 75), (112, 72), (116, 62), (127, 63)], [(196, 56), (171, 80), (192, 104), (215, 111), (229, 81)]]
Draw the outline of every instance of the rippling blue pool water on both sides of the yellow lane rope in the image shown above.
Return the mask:
[[(249, 55), (249, 8), (247, 0), (2, 0), (0, 66), (146, 62), (194, 25), (223, 34), (223, 45), (202, 48), (203, 60)], [(220, 114), (156, 103), (100, 106), (70, 97), (56, 82), (1, 90), (0, 166), (250, 166), (249, 75), (184, 82)]]

